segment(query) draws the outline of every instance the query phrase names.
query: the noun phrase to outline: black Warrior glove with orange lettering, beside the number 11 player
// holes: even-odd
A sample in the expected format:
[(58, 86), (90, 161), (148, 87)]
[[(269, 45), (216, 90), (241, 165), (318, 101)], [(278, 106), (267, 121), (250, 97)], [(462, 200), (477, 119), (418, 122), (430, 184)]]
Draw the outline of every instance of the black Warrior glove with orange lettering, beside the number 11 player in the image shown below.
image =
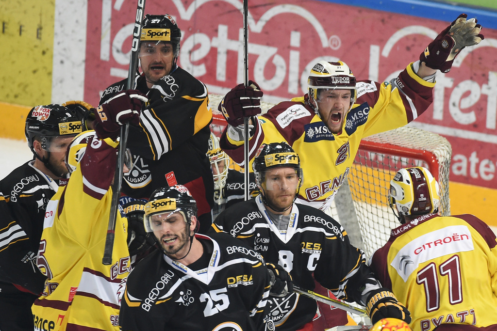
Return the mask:
[(383, 318), (395, 318), (403, 320), (407, 324), (411, 323), (409, 310), (385, 287), (371, 291), (366, 312), (373, 324)]

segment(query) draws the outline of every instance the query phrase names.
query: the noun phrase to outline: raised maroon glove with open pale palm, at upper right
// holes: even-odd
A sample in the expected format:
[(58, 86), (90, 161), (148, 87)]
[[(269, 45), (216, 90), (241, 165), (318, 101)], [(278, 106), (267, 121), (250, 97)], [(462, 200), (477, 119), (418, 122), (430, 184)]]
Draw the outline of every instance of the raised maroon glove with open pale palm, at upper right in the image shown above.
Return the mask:
[(467, 14), (461, 14), (433, 40), (419, 60), (432, 69), (449, 72), (456, 57), (467, 46), (479, 44), (484, 36), (480, 33), (482, 26), (476, 18), (466, 20)]

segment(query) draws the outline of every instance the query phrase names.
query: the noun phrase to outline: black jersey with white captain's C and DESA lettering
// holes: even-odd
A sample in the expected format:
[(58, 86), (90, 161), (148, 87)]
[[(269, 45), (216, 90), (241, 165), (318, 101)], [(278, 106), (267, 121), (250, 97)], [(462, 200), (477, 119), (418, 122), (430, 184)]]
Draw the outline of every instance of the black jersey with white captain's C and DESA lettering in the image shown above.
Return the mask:
[[(364, 253), (350, 244), (342, 226), (310, 206), (294, 203), (288, 229), (279, 231), (257, 196), (226, 209), (212, 227), (243, 240), (266, 262), (283, 266), (306, 289), (314, 289), (315, 278), (336, 297), (361, 302), (363, 286), (372, 277)], [(285, 331), (311, 322), (317, 309), (315, 300), (297, 293), (270, 297), (268, 304), (277, 329)]]

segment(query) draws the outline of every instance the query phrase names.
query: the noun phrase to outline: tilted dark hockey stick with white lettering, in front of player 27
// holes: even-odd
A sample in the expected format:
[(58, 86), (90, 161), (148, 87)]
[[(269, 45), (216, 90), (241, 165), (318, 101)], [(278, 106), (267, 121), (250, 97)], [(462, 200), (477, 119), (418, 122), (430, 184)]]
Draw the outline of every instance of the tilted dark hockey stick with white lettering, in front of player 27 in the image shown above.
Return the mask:
[[(145, 0), (138, 0), (135, 16), (135, 27), (133, 29), (133, 43), (131, 44), (131, 59), (129, 62), (128, 82), (126, 89), (134, 88), (135, 74), (138, 68), (138, 50), (140, 46), (140, 35), (142, 34), (143, 11), (145, 10)], [(107, 236), (105, 237), (105, 248), (103, 251), (102, 264), (112, 263), (112, 249), (114, 247), (114, 232), (116, 228), (117, 206), (121, 193), (123, 179), (124, 154), (126, 153), (126, 141), (128, 140), (129, 123), (121, 127), (119, 141), (119, 151), (117, 153), (116, 172), (114, 173), (114, 183), (112, 185), (112, 204), (110, 205), (109, 224), (107, 226)]]

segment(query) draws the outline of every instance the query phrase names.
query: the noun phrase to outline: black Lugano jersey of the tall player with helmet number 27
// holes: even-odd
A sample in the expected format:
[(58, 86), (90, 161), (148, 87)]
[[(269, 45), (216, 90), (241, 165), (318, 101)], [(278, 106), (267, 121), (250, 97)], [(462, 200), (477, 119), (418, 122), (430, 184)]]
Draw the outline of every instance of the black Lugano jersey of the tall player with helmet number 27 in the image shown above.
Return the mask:
[[(100, 104), (126, 90), (126, 84), (124, 79), (106, 88)], [(150, 89), (143, 75), (136, 86), (149, 103), (140, 115), (140, 126), (129, 129), (126, 146), (134, 162), (123, 175), (122, 192), (148, 199), (158, 188), (181, 184), (197, 201), (198, 214), (210, 214), (214, 180), (205, 154), (212, 121), (207, 87), (180, 67)]]

